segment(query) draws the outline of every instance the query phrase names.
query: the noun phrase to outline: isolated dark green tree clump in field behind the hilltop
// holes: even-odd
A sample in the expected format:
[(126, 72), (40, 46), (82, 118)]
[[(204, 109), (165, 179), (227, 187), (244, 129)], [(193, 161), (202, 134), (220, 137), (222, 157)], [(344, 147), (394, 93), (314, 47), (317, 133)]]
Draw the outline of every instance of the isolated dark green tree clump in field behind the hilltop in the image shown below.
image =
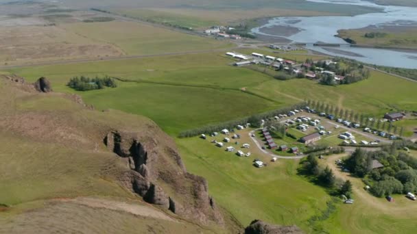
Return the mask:
[(101, 90), (105, 87), (116, 88), (117, 83), (114, 79), (106, 77), (72, 77), (67, 86), (78, 91), (88, 91), (88, 90)]

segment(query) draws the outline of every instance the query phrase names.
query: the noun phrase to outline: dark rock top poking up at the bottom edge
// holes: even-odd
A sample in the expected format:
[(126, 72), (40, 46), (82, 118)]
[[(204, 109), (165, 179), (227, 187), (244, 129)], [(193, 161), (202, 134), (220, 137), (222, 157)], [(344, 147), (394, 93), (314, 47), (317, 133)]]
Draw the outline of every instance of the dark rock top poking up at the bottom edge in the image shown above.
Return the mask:
[(297, 226), (279, 226), (267, 224), (261, 220), (253, 220), (245, 229), (245, 234), (301, 234)]

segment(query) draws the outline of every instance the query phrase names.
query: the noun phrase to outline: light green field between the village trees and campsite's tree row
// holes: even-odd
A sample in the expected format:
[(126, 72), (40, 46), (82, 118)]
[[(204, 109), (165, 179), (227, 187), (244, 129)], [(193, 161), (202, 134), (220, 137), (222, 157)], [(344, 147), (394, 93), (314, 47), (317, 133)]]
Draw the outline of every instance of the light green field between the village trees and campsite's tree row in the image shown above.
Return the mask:
[[(378, 83), (378, 89), (374, 88)], [(417, 83), (371, 71), (369, 79), (343, 86), (322, 86), (316, 81), (291, 79), (266, 81), (253, 92), (267, 96), (283, 96), (288, 102), (312, 99), (331, 103), (370, 116), (381, 117), (393, 109), (416, 109)]]

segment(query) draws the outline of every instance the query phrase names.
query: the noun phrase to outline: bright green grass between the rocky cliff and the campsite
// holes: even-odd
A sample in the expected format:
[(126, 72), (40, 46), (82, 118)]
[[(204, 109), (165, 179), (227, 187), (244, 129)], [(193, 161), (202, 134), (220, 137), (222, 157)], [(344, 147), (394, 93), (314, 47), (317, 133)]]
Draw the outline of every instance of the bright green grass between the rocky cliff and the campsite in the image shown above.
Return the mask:
[[(177, 140), (187, 170), (208, 179), (217, 203), (241, 223), (253, 219), (298, 224), (310, 230), (307, 220), (325, 207), (329, 196), (296, 175), (298, 161), (270, 163), (270, 157), (237, 157), (199, 138)], [(252, 166), (255, 157), (265, 168)]]

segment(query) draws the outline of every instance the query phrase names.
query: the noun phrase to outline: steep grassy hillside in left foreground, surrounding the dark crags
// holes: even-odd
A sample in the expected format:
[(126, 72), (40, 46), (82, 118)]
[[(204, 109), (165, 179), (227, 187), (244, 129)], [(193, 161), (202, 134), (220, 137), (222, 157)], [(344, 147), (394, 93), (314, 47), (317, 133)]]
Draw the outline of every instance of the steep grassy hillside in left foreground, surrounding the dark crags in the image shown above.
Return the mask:
[[(38, 94), (30, 86), (4, 81), (3, 77), (0, 83), (0, 144), (3, 145), (0, 232), (108, 231), (116, 230), (123, 222), (128, 226), (122, 229), (128, 233), (152, 229), (165, 233), (168, 230), (222, 233), (229, 225), (232, 229), (237, 227), (227, 214), (221, 218), (226, 226), (211, 221), (208, 209), (218, 211), (209, 205), (204, 207), (209, 203), (214, 207), (214, 201), (210, 202), (205, 195), (207, 187), (202, 184), (205, 190), (198, 190), (199, 180), (204, 179), (178, 170), (171, 162), (176, 160), (180, 164), (174, 143), (151, 120), (117, 111), (88, 110), (75, 96)], [(131, 170), (127, 158), (119, 157), (104, 145), (104, 136), (116, 130), (136, 134), (136, 144), (141, 144), (141, 152), (146, 157), (142, 166), (148, 166), (143, 178), (152, 175), (149, 177), (152, 186), (157, 183), (166, 188), (165, 192), (174, 198), (177, 206), (174, 213), (163, 205), (135, 208), (133, 204), (125, 204), (130, 200), (143, 206), (130, 180), (136, 178), (134, 183), (139, 183), (142, 176), (134, 174), (137, 172)], [(169, 175), (169, 172), (174, 173), (171, 178), (175, 186), (162, 176), (154, 176)], [(80, 196), (99, 197), (73, 204), (72, 198)], [(162, 194), (158, 196), (162, 198)], [(103, 197), (109, 197), (108, 201)], [(198, 219), (184, 221), (195, 212), (193, 205), (190, 206), (193, 203), (201, 208)], [(180, 212), (180, 207), (185, 211)], [(62, 219), (51, 218), (58, 217), (57, 213), (67, 217), (64, 224), (59, 225)], [(160, 213), (165, 218), (154, 217), (152, 213)], [(106, 222), (112, 218), (115, 222)]]

